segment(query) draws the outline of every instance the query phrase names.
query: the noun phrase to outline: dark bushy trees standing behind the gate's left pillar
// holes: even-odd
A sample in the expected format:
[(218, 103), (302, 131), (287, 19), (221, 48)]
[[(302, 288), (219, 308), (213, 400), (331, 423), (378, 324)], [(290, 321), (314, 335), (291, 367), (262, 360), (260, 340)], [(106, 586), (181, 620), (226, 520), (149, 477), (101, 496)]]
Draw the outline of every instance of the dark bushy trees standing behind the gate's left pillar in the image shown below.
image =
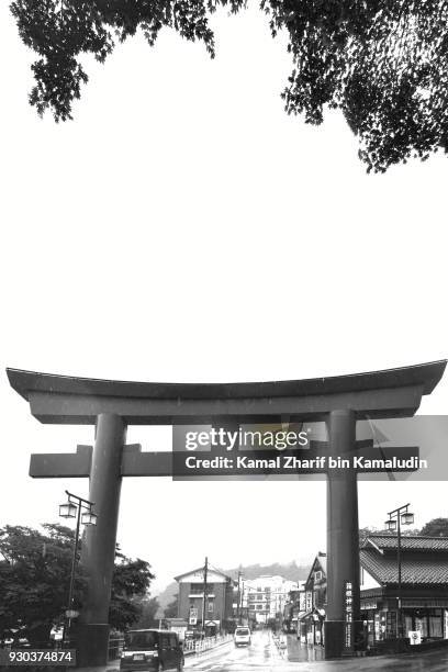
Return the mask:
[[(58, 524), (42, 528), (0, 528), (0, 638), (4, 631), (20, 631), (32, 643), (47, 642), (53, 626), (64, 623), (75, 533)], [(157, 607), (148, 597), (154, 578), (147, 561), (127, 558), (116, 546), (109, 611), (112, 628), (122, 631), (149, 612), (155, 615)], [(82, 606), (86, 586), (87, 576), (78, 564), (75, 609)]]

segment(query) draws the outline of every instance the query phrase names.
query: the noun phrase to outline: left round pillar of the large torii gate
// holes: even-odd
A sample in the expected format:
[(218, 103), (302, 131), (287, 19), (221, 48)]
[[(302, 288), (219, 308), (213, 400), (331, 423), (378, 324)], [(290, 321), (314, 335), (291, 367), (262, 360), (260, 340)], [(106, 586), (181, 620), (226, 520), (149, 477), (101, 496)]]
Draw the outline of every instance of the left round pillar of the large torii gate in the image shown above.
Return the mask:
[(88, 575), (87, 602), (78, 625), (78, 665), (103, 665), (109, 642), (109, 604), (119, 520), (123, 419), (112, 413), (97, 418), (89, 500), (97, 525), (86, 528), (81, 564)]

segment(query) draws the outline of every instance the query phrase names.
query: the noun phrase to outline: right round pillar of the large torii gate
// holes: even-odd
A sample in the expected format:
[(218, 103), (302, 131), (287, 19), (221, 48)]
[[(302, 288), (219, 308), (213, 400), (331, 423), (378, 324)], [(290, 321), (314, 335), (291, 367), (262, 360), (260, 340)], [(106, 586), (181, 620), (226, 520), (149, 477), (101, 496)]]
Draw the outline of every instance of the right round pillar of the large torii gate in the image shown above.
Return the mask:
[[(332, 411), (327, 421), (328, 458), (356, 447), (356, 418), (350, 410)], [(360, 617), (358, 488), (354, 469), (327, 472), (327, 613), (325, 658), (339, 658), (345, 638), (345, 586), (352, 585), (350, 648)]]

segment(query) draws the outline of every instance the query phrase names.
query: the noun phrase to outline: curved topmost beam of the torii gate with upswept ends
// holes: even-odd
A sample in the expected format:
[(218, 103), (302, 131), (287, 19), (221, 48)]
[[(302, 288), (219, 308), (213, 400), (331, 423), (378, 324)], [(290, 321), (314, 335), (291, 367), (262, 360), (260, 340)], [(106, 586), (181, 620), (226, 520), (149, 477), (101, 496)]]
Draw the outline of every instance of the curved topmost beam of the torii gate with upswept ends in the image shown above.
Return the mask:
[(49, 424), (96, 424), (101, 413), (127, 425), (176, 425), (234, 418), (271, 422), (323, 417), (350, 408), (356, 419), (413, 415), (430, 394), (446, 361), (413, 367), (248, 383), (145, 383), (98, 380), (8, 369), (14, 390), (30, 402), (32, 415)]

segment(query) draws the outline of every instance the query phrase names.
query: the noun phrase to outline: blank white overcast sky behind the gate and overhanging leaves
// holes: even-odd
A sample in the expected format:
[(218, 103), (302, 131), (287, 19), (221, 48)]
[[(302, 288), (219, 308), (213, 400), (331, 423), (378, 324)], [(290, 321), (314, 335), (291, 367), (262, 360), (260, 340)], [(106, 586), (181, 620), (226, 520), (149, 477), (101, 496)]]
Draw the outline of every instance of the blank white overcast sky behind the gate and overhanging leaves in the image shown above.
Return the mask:
[[(290, 58), (256, 8), (217, 13), (215, 60), (168, 31), (154, 49), (136, 37), (104, 66), (86, 59), (75, 121), (56, 125), (27, 103), (33, 55), (7, 5), (2, 371), (250, 381), (448, 355), (447, 159), (367, 176), (340, 114), (317, 128), (288, 117)], [(0, 394), (0, 524), (56, 520), (65, 489), (88, 483), (32, 481), (30, 453), (93, 430), (38, 424), (4, 373)], [(421, 412), (447, 401), (448, 374)], [(169, 448), (170, 430), (131, 427), (128, 440)], [(359, 494), (362, 526), (405, 502), (417, 525), (448, 515), (445, 483)], [(128, 479), (119, 540), (149, 560), (155, 589), (205, 555), (223, 568), (306, 559), (325, 548), (325, 485)]]

